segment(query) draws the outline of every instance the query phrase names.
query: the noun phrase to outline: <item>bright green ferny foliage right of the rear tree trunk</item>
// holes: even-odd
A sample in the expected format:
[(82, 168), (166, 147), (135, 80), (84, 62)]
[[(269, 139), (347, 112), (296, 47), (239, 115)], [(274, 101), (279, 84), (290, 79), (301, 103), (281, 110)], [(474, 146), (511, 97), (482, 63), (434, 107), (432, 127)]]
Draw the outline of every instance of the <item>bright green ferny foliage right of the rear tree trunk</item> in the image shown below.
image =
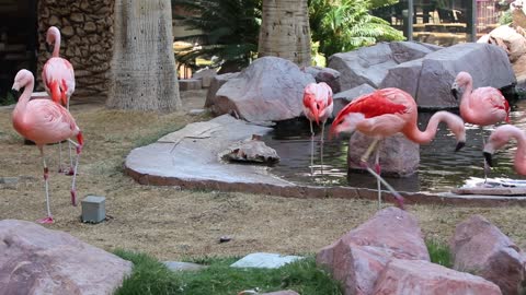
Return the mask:
[(370, 15), (369, 9), (369, 0), (311, 0), (310, 28), (320, 51), (330, 57), (377, 42), (404, 39), (402, 32)]

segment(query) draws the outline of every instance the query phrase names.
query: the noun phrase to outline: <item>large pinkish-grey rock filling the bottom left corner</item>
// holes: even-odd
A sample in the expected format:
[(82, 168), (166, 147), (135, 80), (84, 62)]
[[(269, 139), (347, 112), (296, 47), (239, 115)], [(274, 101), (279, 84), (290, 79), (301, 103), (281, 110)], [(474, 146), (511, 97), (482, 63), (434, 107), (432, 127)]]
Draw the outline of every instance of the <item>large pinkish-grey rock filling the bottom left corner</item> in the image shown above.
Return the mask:
[(132, 262), (69, 234), (0, 221), (0, 294), (113, 294)]

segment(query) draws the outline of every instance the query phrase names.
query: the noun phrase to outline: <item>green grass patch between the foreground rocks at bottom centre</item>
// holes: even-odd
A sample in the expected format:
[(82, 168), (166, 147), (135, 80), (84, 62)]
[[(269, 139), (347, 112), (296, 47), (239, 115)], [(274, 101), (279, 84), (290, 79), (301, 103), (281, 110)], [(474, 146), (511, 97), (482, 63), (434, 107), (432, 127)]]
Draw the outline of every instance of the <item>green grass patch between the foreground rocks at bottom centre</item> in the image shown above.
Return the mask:
[(316, 267), (313, 256), (279, 269), (230, 268), (237, 258), (201, 258), (192, 262), (207, 264), (196, 272), (171, 272), (162, 263), (144, 253), (115, 250), (115, 255), (134, 262), (134, 271), (115, 293), (231, 295), (243, 290), (261, 293), (294, 290), (302, 295), (340, 295), (339, 283)]

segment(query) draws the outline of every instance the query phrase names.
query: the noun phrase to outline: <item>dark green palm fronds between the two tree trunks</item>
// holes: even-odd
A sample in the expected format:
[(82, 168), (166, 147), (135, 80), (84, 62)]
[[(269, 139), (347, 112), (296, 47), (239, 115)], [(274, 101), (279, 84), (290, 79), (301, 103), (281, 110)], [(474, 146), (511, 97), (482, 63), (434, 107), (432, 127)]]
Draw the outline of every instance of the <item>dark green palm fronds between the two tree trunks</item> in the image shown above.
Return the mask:
[(217, 57), (211, 66), (228, 72), (247, 67), (255, 57), (261, 0), (172, 0), (172, 5), (186, 12), (174, 20), (202, 32), (180, 38), (202, 46), (176, 52), (179, 62), (192, 66), (197, 57)]

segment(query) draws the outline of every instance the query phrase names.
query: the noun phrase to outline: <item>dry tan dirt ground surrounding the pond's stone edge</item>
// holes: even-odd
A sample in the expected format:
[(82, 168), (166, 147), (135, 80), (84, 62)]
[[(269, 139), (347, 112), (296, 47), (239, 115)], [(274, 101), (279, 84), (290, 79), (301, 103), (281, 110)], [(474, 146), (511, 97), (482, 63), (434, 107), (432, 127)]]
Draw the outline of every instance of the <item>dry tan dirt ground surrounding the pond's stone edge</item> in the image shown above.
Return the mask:
[[(201, 108), (206, 92), (183, 92), (184, 109)], [(0, 108), (0, 219), (35, 221), (45, 216), (38, 150), (24, 145), (11, 126), (12, 108)], [(136, 184), (123, 174), (128, 152), (153, 142), (207, 115), (158, 115), (104, 108), (103, 99), (72, 101), (71, 113), (83, 129), (78, 193), (106, 197), (108, 220), (80, 222), (81, 208), (71, 206), (70, 176), (58, 175), (58, 145), (46, 146), (50, 167), (52, 213), (48, 228), (68, 232), (104, 249), (139, 250), (163, 260), (203, 256), (242, 256), (254, 251), (313, 253), (366, 221), (376, 202), (341, 199), (294, 199), (220, 191), (188, 191)], [(482, 214), (526, 249), (526, 209), (412, 205), (426, 237), (447, 241), (455, 225)], [(231, 236), (228, 243), (219, 237)]]

